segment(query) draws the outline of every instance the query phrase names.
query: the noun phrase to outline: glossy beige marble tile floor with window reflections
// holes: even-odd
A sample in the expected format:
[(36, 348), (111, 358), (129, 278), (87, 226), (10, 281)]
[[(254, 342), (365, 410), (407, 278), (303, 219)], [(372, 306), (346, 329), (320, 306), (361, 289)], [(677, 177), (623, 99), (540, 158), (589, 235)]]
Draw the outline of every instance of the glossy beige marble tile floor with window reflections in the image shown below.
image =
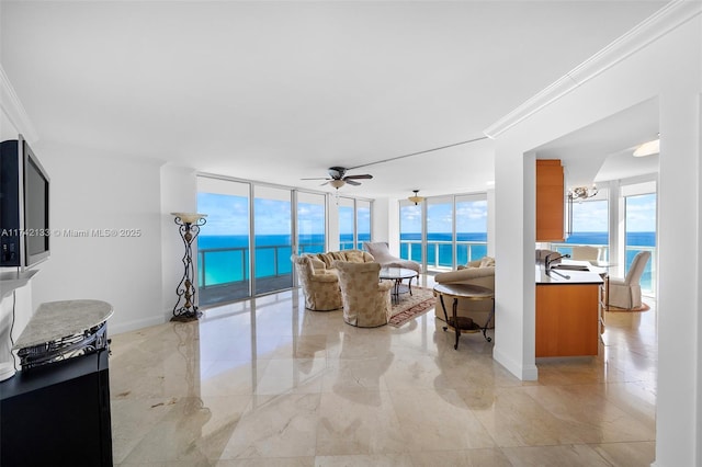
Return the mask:
[(520, 381), (433, 310), (358, 329), (298, 292), (112, 335), (116, 466), (648, 466), (656, 308)]

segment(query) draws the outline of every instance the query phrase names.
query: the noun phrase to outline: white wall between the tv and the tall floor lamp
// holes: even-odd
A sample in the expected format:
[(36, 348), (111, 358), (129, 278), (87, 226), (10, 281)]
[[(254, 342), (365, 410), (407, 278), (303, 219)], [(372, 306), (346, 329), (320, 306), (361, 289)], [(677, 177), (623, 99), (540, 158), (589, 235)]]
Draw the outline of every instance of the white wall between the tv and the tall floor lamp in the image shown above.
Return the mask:
[[(110, 333), (163, 322), (160, 162), (38, 141), (50, 176), (52, 257), (33, 303), (112, 304)], [(106, 232), (106, 234), (105, 234)]]

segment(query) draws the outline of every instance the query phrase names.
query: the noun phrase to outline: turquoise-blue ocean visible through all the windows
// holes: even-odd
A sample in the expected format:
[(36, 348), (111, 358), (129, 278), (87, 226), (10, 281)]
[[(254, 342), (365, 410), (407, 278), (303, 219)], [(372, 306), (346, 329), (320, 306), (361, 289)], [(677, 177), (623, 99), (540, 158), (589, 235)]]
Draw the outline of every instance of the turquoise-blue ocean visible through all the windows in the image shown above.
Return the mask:
[[(360, 238), (363, 242), (366, 238)], [(451, 234), (427, 235), (427, 263), (430, 266), (451, 267), (453, 265), (453, 248)], [(478, 260), (487, 254), (487, 235), (485, 232), (460, 232), (456, 235), (456, 263), (465, 264), (468, 261)], [(421, 259), (421, 234), (400, 235), (400, 257)], [(353, 247), (352, 235), (341, 235), (342, 249)], [(595, 244), (607, 246), (607, 232), (579, 232), (571, 235), (559, 248), (567, 251), (567, 244)], [(292, 273), (290, 257), (292, 250), (292, 237), (290, 235), (264, 235), (256, 238), (256, 271), (258, 277), (269, 277)], [(655, 232), (630, 232), (626, 236), (626, 264), (639, 251), (635, 247), (649, 249), (656, 244)], [(304, 253), (318, 253), (325, 251), (324, 235), (299, 236), (301, 251)], [(226, 284), (245, 281), (249, 277), (249, 236), (207, 236), (197, 238), (200, 284), (201, 286)], [(411, 253), (411, 254), (408, 254)], [(646, 265), (642, 287), (650, 287), (652, 262)]]

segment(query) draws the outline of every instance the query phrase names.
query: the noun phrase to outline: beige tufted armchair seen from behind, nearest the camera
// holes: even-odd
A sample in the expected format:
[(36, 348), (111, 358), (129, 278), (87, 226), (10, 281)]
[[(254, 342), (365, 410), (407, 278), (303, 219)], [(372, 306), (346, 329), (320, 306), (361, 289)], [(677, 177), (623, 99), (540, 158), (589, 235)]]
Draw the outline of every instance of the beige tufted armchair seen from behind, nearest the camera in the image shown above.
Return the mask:
[(389, 281), (380, 282), (380, 263), (336, 261), (339, 275), (343, 320), (359, 328), (387, 324), (393, 316)]

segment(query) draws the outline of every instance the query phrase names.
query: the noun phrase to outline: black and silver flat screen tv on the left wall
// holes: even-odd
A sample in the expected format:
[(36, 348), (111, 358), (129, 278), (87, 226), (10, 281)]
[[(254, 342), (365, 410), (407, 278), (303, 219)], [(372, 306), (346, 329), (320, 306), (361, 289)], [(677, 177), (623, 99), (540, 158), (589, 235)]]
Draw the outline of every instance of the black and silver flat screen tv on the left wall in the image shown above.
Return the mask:
[(50, 249), (49, 178), (22, 135), (0, 143), (0, 266), (31, 267)]

